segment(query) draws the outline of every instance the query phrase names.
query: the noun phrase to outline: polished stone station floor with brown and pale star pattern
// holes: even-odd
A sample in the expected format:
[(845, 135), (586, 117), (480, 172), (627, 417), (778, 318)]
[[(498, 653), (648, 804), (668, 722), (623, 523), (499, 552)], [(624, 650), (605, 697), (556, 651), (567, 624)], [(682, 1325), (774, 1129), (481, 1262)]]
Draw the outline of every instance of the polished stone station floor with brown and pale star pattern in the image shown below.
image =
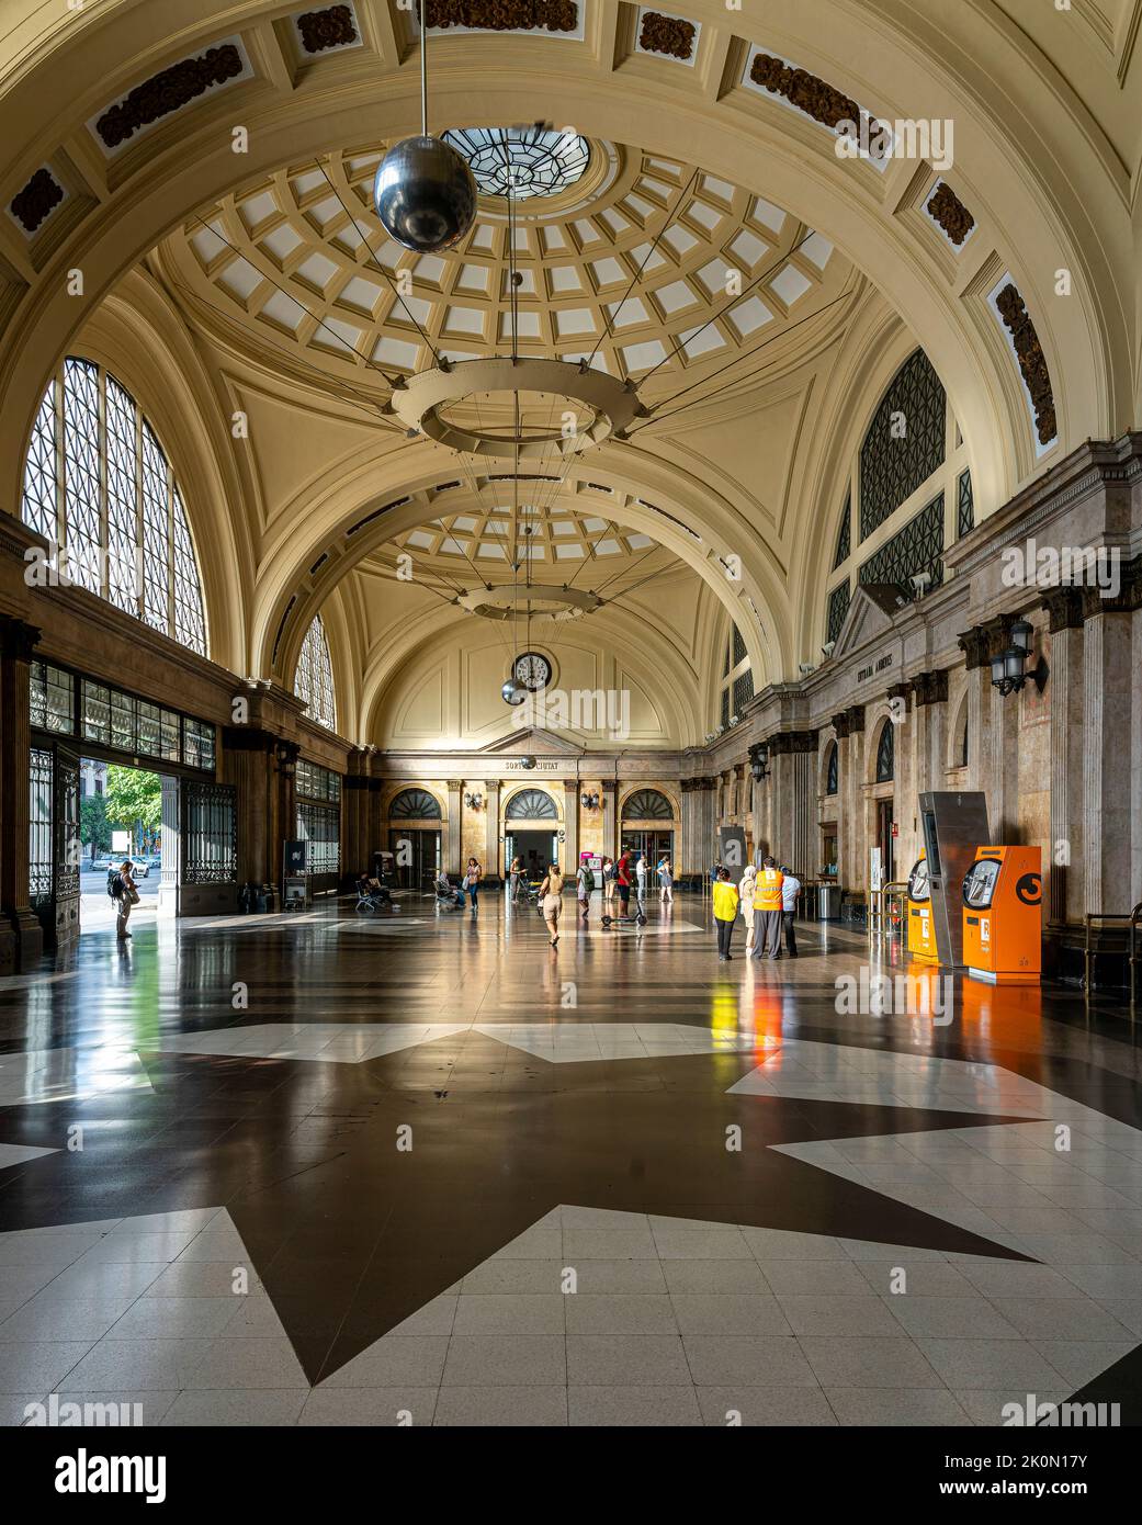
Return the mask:
[(1140, 1423), (1127, 1014), (707, 917), (348, 900), (0, 981), (3, 1421)]

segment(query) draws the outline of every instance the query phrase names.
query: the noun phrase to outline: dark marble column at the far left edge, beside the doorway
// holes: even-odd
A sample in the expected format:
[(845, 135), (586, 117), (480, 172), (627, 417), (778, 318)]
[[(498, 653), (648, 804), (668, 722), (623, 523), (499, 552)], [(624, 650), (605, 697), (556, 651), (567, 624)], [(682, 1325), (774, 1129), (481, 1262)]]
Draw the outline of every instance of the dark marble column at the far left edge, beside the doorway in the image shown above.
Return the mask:
[(32, 968), (44, 947), (27, 886), (30, 660), (40, 631), (0, 616), (0, 974)]

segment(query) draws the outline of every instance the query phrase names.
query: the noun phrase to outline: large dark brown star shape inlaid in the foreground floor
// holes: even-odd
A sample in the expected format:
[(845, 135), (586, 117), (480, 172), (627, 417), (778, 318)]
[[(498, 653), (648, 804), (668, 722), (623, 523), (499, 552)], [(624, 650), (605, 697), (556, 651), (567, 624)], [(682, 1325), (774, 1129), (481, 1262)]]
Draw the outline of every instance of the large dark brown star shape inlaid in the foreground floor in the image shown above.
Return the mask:
[[(735, 1095), (761, 1057), (753, 1048), (572, 1066), (521, 1054), (505, 1068), (503, 1055), (470, 1029), (354, 1064), (145, 1051), (149, 1125), (140, 1118), (102, 1138), (93, 1121), (82, 1151), (32, 1161), (20, 1222), (6, 1226), (58, 1225), (58, 1208), (41, 1202), (82, 1200), (85, 1218), (93, 1202), (104, 1215), (224, 1203), (311, 1383), (569, 1199), (1023, 1258), (778, 1148), (962, 1128), (962, 1112)], [(427, 1084), (436, 1069), (438, 1092)], [(474, 1086), (480, 1071), (486, 1084)], [(464, 1084), (451, 1089), (450, 1074)], [(528, 1090), (524, 1148), (511, 1086)], [(672, 1103), (683, 1092), (680, 1132)], [(227, 1104), (230, 1093), (247, 1104)]]

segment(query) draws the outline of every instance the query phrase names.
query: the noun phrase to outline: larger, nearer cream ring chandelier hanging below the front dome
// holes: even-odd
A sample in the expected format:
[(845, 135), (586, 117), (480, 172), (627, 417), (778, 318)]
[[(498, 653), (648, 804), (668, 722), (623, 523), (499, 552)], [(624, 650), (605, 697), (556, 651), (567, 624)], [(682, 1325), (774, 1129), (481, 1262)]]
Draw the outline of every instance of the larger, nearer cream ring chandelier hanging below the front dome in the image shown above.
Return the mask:
[[(550, 393), (585, 410), (587, 419), (573, 427), (505, 433), (456, 422), (442, 413), (482, 393), (496, 396), (520, 392)], [(572, 360), (540, 360), (523, 355), (496, 355), (489, 360), (444, 361), (431, 371), (398, 386), (390, 410), (409, 430), (435, 439), (450, 450), (473, 456), (500, 456), (518, 461), (564, 459), (590, 450), (605, 439), (624, 439), (636, 418), (646, 409), (627, 381), (616, 381), (604, 371), (592, 371)], [(474, 421), (473, 421), (474, 422)]]

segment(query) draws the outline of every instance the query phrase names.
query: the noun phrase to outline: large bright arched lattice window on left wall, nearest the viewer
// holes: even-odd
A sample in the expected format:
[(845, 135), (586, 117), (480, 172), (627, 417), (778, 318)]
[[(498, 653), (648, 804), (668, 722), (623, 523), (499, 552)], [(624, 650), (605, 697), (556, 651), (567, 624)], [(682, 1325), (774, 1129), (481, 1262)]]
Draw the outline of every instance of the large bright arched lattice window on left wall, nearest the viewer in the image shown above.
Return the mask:
[(102, 366), (69, 355), (24, 458), (21, 515), (59, 572), (206, 656), (206, 618), (181, 493), (139, 404)]

